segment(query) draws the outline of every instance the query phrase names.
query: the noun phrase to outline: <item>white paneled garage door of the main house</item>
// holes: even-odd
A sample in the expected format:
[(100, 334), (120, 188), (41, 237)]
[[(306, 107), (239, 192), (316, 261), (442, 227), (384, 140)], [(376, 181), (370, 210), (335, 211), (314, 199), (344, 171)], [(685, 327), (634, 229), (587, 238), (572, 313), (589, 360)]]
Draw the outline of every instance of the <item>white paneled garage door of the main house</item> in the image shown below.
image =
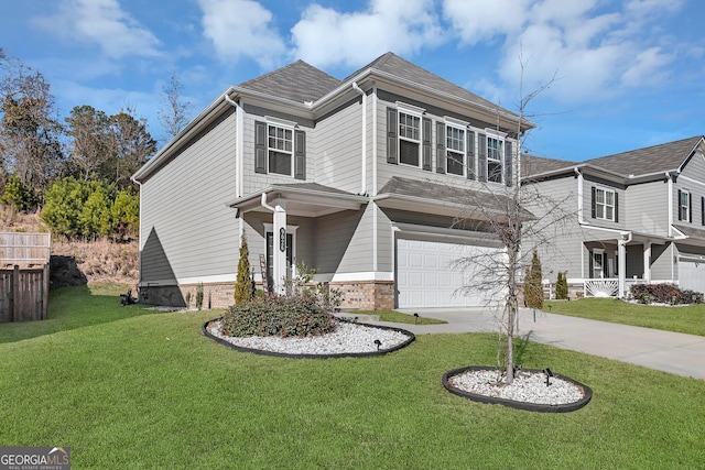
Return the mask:
[(479, 292), (458, 291), (463, 287), (466, 277), (471, 278), (471, 272), (454, 270), (453, 262), (464, 253), (471, 252), (487, 252), (501, 256), (495, 248), (398, 239), (399, 308), (486, 305), (487, 300)]

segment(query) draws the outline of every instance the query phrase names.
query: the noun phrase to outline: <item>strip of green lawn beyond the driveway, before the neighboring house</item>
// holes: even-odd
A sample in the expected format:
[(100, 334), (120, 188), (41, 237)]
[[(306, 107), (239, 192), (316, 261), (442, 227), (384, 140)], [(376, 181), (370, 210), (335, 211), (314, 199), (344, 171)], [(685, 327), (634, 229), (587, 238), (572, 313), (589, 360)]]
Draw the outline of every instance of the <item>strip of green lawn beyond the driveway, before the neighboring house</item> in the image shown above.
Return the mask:
[(543, 309), (552, 314), (705, 336), (705, 304), (665, 307), (614, 298), (582, 298), (545, 302)]

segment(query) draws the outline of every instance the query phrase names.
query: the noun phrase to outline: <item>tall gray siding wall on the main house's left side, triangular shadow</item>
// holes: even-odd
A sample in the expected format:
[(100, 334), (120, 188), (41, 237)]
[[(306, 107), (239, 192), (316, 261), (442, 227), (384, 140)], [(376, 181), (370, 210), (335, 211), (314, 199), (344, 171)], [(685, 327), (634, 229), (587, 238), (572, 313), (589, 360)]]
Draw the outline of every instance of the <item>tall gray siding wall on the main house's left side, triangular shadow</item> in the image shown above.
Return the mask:
[(142, 185), (142, 282), (232, 274), (237, 270), (235, 113)]

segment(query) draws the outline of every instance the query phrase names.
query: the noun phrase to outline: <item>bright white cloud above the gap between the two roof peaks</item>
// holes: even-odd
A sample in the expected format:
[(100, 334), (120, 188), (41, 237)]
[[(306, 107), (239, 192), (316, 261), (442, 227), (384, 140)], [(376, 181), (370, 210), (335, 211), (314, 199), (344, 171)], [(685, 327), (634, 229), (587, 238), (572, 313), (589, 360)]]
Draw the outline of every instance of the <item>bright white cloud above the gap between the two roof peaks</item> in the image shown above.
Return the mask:
[(352, 13), (312, 4), (291, 32), (293, 55), (317, 67), (361, 66), (389, 51), (414, 54), (447, 40), (431, 0), (371, 0)]

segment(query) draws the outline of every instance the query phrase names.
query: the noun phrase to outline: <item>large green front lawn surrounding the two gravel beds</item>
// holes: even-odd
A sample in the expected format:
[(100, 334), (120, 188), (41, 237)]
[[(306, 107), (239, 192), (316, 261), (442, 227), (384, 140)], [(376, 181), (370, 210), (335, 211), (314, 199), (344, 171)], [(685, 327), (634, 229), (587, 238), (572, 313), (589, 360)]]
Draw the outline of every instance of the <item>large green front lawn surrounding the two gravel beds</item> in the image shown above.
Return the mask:
[(75, 468), (703, 466), (705, 381), (530, 343), (527, 368), (594, 397), (568, 414), (521, 412), (441, 384), (449, 369), (492, 364), (496, 335), (423, 335), (375, 358), (272, 358), (204, 337), (219, 311), (119, 307), (119, 292), (57, 291), (50, 320), (0, 325), (0, 446), (70, 446)]

